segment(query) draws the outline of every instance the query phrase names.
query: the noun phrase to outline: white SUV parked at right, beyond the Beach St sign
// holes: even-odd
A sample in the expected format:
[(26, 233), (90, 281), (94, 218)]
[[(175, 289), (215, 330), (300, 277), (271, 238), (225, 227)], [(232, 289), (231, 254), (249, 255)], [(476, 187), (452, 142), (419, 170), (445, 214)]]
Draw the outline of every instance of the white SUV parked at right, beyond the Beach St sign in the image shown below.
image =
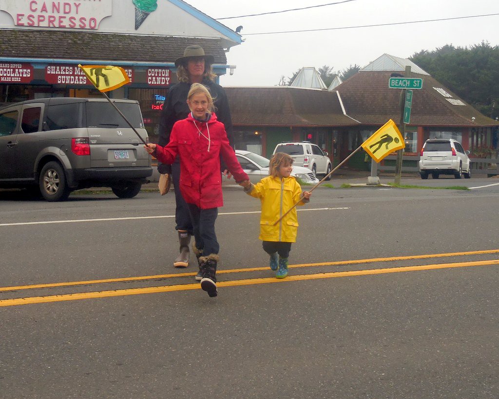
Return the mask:
[(461, 179), (471, 177), (470, 151), (465, 151), (459, 141), (454, 139), (426, 140), (421, 148), (419, 158), (419, 174), (422, 179), (428, 179), (431, 173), (434, 179), (439, 175), (454, 175)]

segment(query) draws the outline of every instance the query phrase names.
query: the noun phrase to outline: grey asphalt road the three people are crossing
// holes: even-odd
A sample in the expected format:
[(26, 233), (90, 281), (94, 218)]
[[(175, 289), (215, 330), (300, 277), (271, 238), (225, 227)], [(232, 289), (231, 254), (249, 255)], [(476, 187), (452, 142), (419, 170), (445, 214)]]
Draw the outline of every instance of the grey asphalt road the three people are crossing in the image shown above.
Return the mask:
[(496, 181), (319, 188), (283, 281), (226, 188), (214, 299), (171, 267), (173, 193), (0, 193), (0, 396), (498, 398)]

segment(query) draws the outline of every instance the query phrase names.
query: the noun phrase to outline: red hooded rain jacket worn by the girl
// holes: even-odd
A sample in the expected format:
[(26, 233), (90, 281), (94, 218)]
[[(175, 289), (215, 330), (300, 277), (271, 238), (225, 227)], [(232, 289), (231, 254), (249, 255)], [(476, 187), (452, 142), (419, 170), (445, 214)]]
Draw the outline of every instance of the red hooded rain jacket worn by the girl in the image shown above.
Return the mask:
[(214, 113), (208, 122), (200, 122), (189, 114), (175, 123), (170, 142), (166, 147), (158, 145), (155, 156), (160, 162), (171, 164), (177, 154), (180, 156), (180, 191), (188, 204), (201, 209), (224, 205), (220, 155), (236, 182), (249, 179), (229, 144), (224, 124), (217, 121)]

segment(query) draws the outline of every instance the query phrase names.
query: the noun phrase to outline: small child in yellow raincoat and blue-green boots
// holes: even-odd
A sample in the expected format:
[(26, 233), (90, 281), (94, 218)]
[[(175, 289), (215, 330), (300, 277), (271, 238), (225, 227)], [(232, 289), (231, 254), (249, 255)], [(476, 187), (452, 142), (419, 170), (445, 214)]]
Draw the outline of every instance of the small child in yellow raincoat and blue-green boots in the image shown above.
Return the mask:
[(305, 205), (311, 193), (304, 191), (296, 179), (290, 176), (293, 158), (277, 152), (270, 158), (268, 177), (252, 184), (249, 180), (240, 183), (245, 192), (261, 201), (260, 235), (263, 250), (270, 255), (270, 269), (276, 271), (275, 277), (287, 276), (287, 263), (291, 243), (296, 242), (298, 218), (296, 207), (279, 223), (274, 223), (301, 198), (298, 205)]

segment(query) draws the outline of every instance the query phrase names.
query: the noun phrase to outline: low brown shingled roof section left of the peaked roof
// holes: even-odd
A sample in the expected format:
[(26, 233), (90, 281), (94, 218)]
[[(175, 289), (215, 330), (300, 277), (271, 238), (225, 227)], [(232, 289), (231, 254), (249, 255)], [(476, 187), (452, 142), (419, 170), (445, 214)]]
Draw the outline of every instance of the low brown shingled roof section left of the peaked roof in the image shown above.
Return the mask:
[(298, 87), (225, 87), (235, 125), (351, 126), (336, 92)]

